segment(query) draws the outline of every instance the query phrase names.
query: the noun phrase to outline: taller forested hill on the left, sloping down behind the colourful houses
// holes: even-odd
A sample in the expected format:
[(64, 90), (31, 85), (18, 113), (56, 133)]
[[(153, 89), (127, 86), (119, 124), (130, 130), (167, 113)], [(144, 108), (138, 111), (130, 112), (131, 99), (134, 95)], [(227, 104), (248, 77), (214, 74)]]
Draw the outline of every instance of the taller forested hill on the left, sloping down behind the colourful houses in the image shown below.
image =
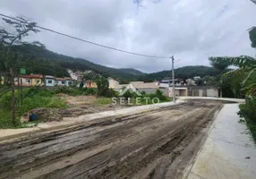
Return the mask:
[(92, 70), (103, 76), (111, 76), (118, 80), (133, 79), (132, 72), (110, 68), (100, 64), (94, 64), (81, 58), (73, 58), (67, 55), (56, 54), (46, 47), (25, 44), (13, 47), (15, 51), (21, 52), (25, 58), (21, 60), (21, 66), (25, 67), (28, 73), (40, 73), (54, 75), (56, 77), (69, 76), (66, 69)]

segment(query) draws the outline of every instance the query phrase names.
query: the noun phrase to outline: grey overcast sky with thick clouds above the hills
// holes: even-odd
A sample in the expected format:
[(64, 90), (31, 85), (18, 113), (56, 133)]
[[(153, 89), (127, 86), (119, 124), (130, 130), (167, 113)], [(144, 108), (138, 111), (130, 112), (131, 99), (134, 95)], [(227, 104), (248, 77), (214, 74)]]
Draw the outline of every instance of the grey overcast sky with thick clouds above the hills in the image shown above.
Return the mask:
[[(252, 55), (256, 26), (250, 0), (1, 0), (0, 13), (106, 46), (146, 55), (175, 55), (175, 67), (209, 65), (216, 55)], [(56, 53), (96, 64), (158, 72), (170, 60), (127, 55), (51, 32), (31, 34)]]

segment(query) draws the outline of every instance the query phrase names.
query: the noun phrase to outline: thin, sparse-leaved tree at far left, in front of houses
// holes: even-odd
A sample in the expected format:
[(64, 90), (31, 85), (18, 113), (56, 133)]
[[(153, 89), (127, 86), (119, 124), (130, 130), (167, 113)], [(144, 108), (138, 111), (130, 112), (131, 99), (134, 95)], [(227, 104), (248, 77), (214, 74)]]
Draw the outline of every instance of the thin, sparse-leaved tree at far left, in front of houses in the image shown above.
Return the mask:
[[(12, 86), (12, 121), (15, 124), (15, 96), (14, 96), (14, 77), (19, 71), (21, 63), (21, 54), (12, 50), (13, 45), (21, 45), (24, 43), (22, 38), (29, 36), (29, 32), (38, 32), (36, 29), (37, 23), (27, 21), (21, 17), (15, 19), (2, 20), (9, 27), (9, 30), (0, 30), (0, 46), (4, 56), (1, 56), (1, 69), (4, 71), (4, 82), (9, 81)], [(0, 72), (1, 74), (2, 72)], [(18, 83), (19, 83), (18, 78)], [(20, 98), (20, 97), (19, 97)]]

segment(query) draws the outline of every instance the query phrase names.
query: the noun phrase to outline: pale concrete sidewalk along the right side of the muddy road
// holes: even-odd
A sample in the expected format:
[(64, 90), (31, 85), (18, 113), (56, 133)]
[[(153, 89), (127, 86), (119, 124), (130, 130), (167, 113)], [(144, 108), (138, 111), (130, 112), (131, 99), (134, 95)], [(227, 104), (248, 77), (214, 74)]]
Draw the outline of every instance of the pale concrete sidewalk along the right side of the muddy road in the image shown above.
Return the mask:
[(186, 178), (256, 178), (256, 146), (246, 124), (237, 123), (237, 104), (223, 107)]

